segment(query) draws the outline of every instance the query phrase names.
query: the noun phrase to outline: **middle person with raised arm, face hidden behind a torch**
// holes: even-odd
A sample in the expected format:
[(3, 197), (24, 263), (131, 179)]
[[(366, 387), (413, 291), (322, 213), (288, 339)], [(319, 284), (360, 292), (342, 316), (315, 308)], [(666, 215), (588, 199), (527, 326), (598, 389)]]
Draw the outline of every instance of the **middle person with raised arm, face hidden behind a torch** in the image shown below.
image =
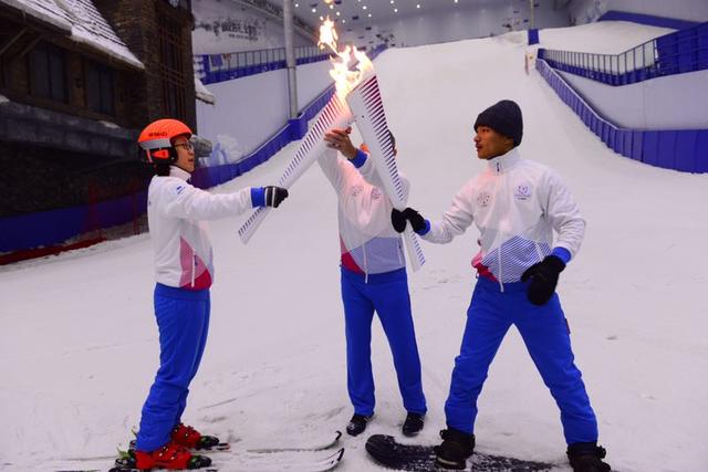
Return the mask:
[[(350, 133), (351, 128), (327, 132), (324, 140), (335, 151), (325, 151), (319, 158), (320, 167), (339, 197), (347, 390), (354, 407), (346, 432), (361, 434), (374, 415), (371, 329), (375, 311), (391, 346), (398, 388), (408, 412), (403, 433), (415, 436), (423, 429), (427, 407), (402, 238), (391, 225), (394, 207), (382, 190), (366, 146), (355, 148)], [(391, 132), (388, 138), (395, 148)], [(340, 159), (336, 150), (346, 160)], [(402, 180), (407, 195), (408, 182)]]

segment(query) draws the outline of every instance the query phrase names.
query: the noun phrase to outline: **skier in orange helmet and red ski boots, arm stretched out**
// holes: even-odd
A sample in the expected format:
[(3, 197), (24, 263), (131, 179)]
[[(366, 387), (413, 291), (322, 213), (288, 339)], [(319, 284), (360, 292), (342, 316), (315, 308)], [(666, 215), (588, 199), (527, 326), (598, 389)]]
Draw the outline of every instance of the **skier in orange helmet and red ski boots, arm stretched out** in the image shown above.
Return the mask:
[(212, 195), (192, 187), (191, 129), (176, 119), (158, 119), (138, 143), (155, 177), (148, 188), (147, 221), (155, 251), (155, 316), (159, 328), (160, 366), (143, 406), (131, 466), (197, 469), (210, 460), (189, 449), (219, 442), (183, 424), (189, 384), (197, 374), (209, 328), (212, 251), (206, 222), (237, 216), (254, 207), (278, 207), (288, 190), (244, 188)]

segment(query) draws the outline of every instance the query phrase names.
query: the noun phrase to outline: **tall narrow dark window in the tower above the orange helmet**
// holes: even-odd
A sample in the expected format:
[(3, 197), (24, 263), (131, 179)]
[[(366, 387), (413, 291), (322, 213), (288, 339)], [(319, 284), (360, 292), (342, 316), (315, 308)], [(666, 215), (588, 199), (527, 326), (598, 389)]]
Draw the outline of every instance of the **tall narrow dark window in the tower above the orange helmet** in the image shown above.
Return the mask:
[(158, 10), (158, 41), (164, 113), (177, 119), (187, 118), (185, 64), (181, 25)]

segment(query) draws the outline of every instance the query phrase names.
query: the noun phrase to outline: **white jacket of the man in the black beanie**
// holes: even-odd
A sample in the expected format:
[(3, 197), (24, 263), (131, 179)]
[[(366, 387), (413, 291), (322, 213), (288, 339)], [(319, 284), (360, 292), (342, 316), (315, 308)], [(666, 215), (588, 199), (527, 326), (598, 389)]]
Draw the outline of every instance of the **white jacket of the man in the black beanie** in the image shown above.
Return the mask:
[(553, 248), (564, 248), (574, 256), (585, 233), (585, 220), (560, 177), (522, 159), (517, 148), (489, 160), (487, 169), (455, 196), (442, 221), (431, 222), (423, 238), (447, 243), (472, 222), (480, 231), (481, 248), (472, 266), (502, 289), (503, 283), (519, 282)]

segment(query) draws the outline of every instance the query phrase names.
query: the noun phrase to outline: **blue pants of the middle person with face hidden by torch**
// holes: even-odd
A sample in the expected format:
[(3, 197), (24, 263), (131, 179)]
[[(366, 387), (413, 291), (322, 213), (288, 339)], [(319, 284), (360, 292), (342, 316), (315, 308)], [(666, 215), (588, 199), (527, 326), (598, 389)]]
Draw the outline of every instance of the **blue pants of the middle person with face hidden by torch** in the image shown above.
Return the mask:
[(342, 268), (342, 301), (346, 331), (347, 390), (354, 412), (364, 416), (374, 413), (371, 344), (372, 321), (376, 312), (391, 346), (404, 408), (409, 412), (424, 415), (427, 407), (406, 270), (369, 274), (366, 279)]

